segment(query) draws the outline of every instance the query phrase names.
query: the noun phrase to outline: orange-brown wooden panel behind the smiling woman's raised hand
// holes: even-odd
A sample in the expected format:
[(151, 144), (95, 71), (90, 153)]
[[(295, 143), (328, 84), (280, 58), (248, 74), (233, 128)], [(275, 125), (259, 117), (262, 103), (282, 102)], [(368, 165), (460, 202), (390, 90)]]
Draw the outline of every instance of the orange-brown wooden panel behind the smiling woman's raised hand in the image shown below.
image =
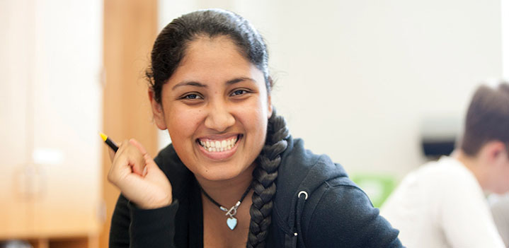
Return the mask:
[[(151, 122), (147, 81), (142, 75), (149, 66), (158, 33), (157, 4), (157, 0), (104, 1), (103, 131), (116, 141), (136, 138), (153, 156), (158, 151), (157, 128)], [(111, 165), (106, 150), (103, 149), (103, 175)], [(106, 222), (100, 235), (101, 247), (108, 247), (110, 220), (119, 193), (104, 176)]]

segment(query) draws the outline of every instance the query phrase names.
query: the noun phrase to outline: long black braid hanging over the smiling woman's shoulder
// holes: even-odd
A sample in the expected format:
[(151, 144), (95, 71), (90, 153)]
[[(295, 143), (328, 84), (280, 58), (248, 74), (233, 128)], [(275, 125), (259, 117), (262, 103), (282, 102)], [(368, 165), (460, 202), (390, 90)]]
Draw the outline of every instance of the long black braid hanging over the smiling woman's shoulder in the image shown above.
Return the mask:
[(267, 139), (260, 155), (258, 166), (253, 171), (253, 204), (249, 210), (251, 223), (247, 247), (265, 247), (265, 239), (270, 226), (270, 215), (275, 195), (275, 179), (278, 177), (278, 167), (281, 163), (280, 154), (286, 150), (290, 136), (285, 119), (275, 114), (268, 120)]

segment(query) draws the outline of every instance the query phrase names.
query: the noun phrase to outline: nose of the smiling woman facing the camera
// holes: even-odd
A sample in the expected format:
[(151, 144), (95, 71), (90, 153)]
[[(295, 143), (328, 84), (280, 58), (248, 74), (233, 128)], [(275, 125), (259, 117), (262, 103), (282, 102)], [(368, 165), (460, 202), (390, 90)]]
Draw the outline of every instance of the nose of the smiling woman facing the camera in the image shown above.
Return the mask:
[(226, 131), (235, 124), (235, 117), (224, 102), (214, 102), (209, 106), (205, 126), (218, 132)]

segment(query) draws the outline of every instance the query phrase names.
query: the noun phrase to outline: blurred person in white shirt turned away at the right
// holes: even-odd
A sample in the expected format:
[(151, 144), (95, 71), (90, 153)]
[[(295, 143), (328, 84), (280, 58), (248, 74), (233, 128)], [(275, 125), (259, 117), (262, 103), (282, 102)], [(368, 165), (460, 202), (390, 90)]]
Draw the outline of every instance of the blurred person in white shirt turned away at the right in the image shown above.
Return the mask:
[(381, 209), (408, 247), (504, 247), (484, 191), (509, 190), (509, 85), (481, 85), (450, 156), (409, 173)]

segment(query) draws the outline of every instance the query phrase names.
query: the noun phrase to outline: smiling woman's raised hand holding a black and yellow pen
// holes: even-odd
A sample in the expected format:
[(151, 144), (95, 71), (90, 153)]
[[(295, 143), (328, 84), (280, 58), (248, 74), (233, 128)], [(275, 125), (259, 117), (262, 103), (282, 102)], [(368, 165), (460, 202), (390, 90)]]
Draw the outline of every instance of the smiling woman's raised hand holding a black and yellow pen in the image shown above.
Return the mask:
[(112, 165), (108, 181), (139, 208), (161, 208), (172, 202), (171, 184), (147, 150), (135, 139), (120, 143), (117, 153), (110, 150)]

